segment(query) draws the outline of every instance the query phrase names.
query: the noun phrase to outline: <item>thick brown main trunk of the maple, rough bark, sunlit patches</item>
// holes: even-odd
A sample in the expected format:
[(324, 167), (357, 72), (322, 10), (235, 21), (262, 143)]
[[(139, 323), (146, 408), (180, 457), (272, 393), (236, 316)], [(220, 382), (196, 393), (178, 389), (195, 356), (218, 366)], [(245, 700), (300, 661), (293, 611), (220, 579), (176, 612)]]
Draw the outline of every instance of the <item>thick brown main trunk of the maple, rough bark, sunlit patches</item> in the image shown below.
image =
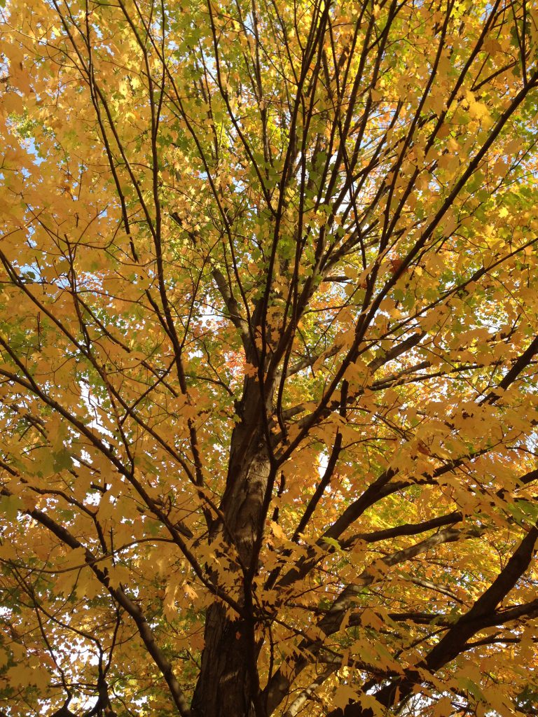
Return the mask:
[(230, 615), (230, 609), (222, 602), (214, 602), (207, 610), (193, 717), (263, 717), (264, 711), (259, 701), (258, 648), (254, 619), (250, 618), (250, 589), (258, 531), (265, 518), (263, 503), (270, 462), (260, 390), (253, 379), (245, 383), (243, 399), (237, 407), (240, 422), (232, 432), (226, 490), (220, 505), (223, 518), (214, 522), (211, 531), (213, 540), (220, 536), (239, 555), (233, 597), (245, 609), (245, 616)]

